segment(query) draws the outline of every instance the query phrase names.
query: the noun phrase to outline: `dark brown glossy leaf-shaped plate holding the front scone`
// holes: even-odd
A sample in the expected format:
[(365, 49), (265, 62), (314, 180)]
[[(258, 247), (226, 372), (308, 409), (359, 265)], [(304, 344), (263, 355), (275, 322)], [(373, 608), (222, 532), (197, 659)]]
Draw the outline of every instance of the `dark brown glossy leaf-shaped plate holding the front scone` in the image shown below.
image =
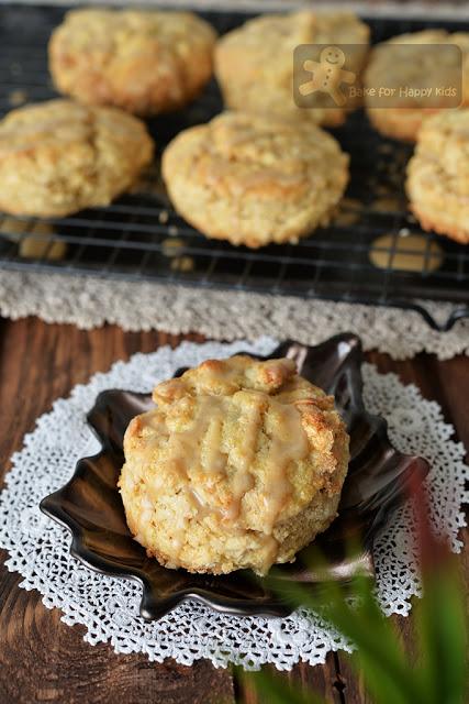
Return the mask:
[[(425, 460), (398, 452), (390, 443), (386, 421), (364, 407), (361, 397), (361, 344), (350, 333), (331, 338), (317, 346), (293, 341), (281, 343), (270, 358), (294, 359), (299, 372), (335, 396), (350, 435), (350, 465), (344, 484), (339, 515), (314, 546), (305, 548), (289, 565), (271, 570), (275, 580), (302, 582), (317, 588), (327, 579), (347, 581), (357, 570), (373, 575), (372, 542), (390, 514), (405, 501), (409, 482), (428, 471)], [(181, 371), (179, 372), (181, 373)], [(131, 418), (153, 406), (149, 394), (113, 389), (103, 392), (88, 415), (102, 450), (77, 463), (71, 480), (43, 499), (41, 508), (72, 535), (71, 554), (104, 574), (142, 584), (141, 614), (160, 618), (185, 600), (197, 600), (216, 610), (237, 615), (286, 615), (291, 610), (265, 580), (246, 571), (211, 576), (168, 570), (132, 539), (116, 482), (123, 464), (122, 440)], [(350, 539), (359, 539), (350, 553)]]

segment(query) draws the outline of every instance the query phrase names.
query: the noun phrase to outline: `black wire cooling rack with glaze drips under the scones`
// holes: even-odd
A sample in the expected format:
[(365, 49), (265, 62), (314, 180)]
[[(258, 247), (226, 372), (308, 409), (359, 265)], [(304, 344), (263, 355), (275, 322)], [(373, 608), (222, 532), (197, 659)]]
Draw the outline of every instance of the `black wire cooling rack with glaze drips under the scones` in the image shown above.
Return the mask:
[[(0, 6), (1, 113), (55, 96), (46, 45), (65, 11)], [(202, 14), (219, 32), (247, 16)], [(375, 42), (436, 24), (367, 21)], [(159, 153), (180, 130), (205, 122), (221, 109), (212, 81), (183, 113), (152, 120), (148, 127)], [(171, 208), (157, 158), (133, 193), (107, 208), (41, 221), (0, 213), (0, 267), (393, 305), (418, 310), (436, 329), (449, 329), (469, 316), (469, 248), (423, 232), (407, 212), (403, 180), (412, 147), (380, 138), (361, 112), (333, 132), (351, 157), (350, 186), (334, 222), (295, 245), (248, 250), (205, 239)], [(454, 304), (446, 320), (431, 315), (432, 300)]]

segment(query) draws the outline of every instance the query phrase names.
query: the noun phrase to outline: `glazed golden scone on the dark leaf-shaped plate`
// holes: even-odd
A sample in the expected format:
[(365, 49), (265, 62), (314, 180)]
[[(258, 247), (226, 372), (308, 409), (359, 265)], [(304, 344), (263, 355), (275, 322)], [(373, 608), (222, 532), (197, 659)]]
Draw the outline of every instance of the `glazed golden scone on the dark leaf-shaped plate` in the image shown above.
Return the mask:
[(156, 386), (125, 433), (135, 539), (167, 568), (265, 574), (336, 516), (348, 436), (291, 360), (210, 360)]

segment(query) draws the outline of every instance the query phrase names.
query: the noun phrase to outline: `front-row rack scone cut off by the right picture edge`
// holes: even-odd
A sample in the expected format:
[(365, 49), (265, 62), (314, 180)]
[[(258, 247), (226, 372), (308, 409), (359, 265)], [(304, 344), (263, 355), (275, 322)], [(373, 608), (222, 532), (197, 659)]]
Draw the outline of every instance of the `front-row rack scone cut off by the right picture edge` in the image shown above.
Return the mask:
[(425, 230), (469, 243), (469, 109), (425, 121), (407, 165), (406, 190)]

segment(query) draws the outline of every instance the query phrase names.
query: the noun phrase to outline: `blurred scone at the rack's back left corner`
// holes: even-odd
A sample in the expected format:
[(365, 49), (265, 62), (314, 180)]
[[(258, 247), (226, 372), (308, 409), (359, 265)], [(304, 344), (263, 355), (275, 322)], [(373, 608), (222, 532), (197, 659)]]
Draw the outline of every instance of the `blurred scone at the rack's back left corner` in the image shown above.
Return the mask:
[(57, 89), (141, 116), (177, 110), (212, 75), (216, 34), (191, 12), (72, 10), (53, 33)]

